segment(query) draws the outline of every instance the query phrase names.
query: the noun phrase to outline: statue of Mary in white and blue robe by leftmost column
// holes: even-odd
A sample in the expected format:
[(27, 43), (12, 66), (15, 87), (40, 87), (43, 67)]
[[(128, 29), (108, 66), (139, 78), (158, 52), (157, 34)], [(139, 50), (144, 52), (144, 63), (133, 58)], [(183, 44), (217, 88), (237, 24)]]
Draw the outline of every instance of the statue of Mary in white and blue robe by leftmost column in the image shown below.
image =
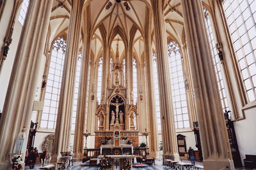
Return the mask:
[(25, 149), (26, 149), (26, 146), (25, 146), (26, 132), (25, 131), (26, 131), (26, 128), (24, 127), (16, 140), (15, 146), (13, 148), (13, 154), (22, 155), (25, 153)]

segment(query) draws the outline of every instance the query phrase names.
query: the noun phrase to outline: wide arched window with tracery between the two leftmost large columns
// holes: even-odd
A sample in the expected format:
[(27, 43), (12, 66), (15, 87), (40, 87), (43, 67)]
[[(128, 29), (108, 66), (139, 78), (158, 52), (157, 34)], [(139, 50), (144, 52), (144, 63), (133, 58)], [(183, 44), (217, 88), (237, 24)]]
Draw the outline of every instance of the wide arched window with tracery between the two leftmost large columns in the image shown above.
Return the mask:
[(40, 125), (40, 127), (43, 128), (54, 129), (56, 126), (65, 49), (66, 41), (63, 37), (56, 39), (52, 45), (51, 61), (44, 98), (44, 110), (42, 112)]

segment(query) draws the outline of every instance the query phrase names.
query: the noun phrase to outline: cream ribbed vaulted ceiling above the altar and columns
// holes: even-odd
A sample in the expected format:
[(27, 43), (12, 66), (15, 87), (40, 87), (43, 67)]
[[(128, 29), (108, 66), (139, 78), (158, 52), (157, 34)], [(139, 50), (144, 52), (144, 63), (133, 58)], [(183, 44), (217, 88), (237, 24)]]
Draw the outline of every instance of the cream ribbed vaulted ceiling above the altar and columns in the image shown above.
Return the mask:
[[(203, 0), (204, 3), (209, 4), (211, 0)], [(109, 3), (111, 5), (109, 6)], [(125, 5), (125, 3), (127, 3)], [(129, 6), (129, 10), (127, 9)], [(50, 31), (51, 41), (60, 34), (68, 33), (68, 24), (70, 18), (70, 11), (72, 9), (71, 0), (54, 0), (51, 14)], [(120, 3), (116, 0), (84, 0), (84, 10), (90, 11), (90, 28), (92, 29), (93, 41), (92, 52), (95, 57), (99, 57), (102, 52), (103, 39), (110, 39), (111, 51), (115, 53), (116, 43), (119, 42), (119, 53), (122, 55), (125, 50), (125, 42), (120, 34), (116, 34), (115, 30), (122, 32), (125, 36), (125, 41), (131, 39), (131, 29), (136, 27), (137, 31), (133, 37), (134, 46), (132, 49), (138, 60), (144, 51), (143, 41), (145, 38), (145, 31), (154, 31), (152, 22), (152, 7), (150, 0), (122, 0)], [(148, 24), (151, 20), (151, 24)], [(166, 34), (168, 39), (177, 40), (180, 45), (184, 43), (184, 22), (182, 17), (182, 8), (180, 0), (165, 0), (164, 4), (164, 19), (166, 23)], [(106, 30), (106, 37), (102, 38), (99, 27), (104, 27)], [(153, 48), (154, 48), (153, 39)], [(120, 56), (121, 57), (121, 56)]]

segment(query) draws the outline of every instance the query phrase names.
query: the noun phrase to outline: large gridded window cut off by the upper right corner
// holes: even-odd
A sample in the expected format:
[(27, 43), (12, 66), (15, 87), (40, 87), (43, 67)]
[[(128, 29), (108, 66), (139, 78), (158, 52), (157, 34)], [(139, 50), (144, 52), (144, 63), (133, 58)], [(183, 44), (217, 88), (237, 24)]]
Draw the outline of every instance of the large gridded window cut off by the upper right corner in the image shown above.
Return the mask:
[(256, 99), (256, 0), (226, 0), (223, 9), (248, 101)]

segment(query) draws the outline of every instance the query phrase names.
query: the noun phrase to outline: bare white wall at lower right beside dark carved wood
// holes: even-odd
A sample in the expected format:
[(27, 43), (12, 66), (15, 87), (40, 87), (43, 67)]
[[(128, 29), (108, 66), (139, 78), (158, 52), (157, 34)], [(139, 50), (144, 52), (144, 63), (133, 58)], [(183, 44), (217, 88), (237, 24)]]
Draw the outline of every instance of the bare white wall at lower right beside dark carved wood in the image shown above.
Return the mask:
[(244, 116), (244, 120), (234, 122), (242, 162), (245, 159), (245, 154), (256, 155), (256, 106), (244, 110)]

